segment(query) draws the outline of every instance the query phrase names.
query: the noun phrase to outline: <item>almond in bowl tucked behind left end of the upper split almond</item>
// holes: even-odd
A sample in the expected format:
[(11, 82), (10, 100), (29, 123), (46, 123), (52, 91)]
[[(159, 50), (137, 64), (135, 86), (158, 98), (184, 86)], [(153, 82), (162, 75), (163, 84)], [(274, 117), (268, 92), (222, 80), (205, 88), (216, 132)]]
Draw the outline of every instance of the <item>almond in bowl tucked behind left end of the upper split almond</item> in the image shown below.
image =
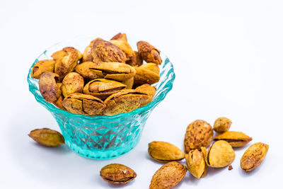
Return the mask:
[(98, 76), (96, 73), (91, 71), (91, 67), (94, 67), (96, 63), (94, 62), (83, 62), (76, 66), (76, 72), (79, 73), (81, 76), (83, 76), (84, 79), (87, 81), (91, 81), (93, 79), (98, 79), (103, 76)]

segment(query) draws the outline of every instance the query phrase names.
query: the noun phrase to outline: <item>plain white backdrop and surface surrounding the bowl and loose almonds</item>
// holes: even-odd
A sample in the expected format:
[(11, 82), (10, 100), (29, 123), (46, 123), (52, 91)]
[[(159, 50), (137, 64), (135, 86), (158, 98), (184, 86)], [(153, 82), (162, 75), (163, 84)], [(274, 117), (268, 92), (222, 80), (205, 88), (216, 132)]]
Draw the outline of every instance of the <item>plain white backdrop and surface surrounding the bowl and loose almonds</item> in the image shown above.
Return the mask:
[[(236, 149), (233, 170), (187, 173), (176, 188), (280, 188), (283, 107), (282, 1), (0, 1), (0, 188), (118, 188), (100, 168), (125, 164), (137, 178), (125, 188), (149, 188), (162, 165), (147, 155), (154, 140), (183, 149), (187, 125), (213, 125), (221, 116), (255, 142), (270, 144), (265, 161), (244, 173), (247, 147)], [(30, 130), (57, 123), (28, 91), (35, 58), (77, 35), (127, 33), (162, 50), (174, 64), (173, 90), (151, 114), (132, 151), (117, 159), (85, 159), (66, 146), (46, 148)], [(107, 40), (107, 39), (106, 39)], [(249, 144), (249, 145), (250, 145)], [(182, 163), (185, 163), (182, 161)], [(123, 187), (122, 187), (123, 188)]]

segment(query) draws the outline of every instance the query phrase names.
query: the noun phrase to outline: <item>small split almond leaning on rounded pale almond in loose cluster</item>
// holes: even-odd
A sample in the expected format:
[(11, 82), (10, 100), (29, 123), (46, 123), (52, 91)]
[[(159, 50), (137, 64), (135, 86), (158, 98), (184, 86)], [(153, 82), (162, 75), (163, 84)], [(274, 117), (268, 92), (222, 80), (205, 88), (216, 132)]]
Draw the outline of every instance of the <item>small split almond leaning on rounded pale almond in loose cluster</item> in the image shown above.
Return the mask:
[[(202, 150), (205, 150), (202, 147)], [(185, 154), (185, 159), (187, 162), (187, 170), (190, 171), (192, 176), (195, 178), (204, 177), (207, 173), (207, 164), (205, 163), (205, 155), (206, 153), (200, 151), (199, 149), (194, 149), (189, 151), (189, 154)]]

